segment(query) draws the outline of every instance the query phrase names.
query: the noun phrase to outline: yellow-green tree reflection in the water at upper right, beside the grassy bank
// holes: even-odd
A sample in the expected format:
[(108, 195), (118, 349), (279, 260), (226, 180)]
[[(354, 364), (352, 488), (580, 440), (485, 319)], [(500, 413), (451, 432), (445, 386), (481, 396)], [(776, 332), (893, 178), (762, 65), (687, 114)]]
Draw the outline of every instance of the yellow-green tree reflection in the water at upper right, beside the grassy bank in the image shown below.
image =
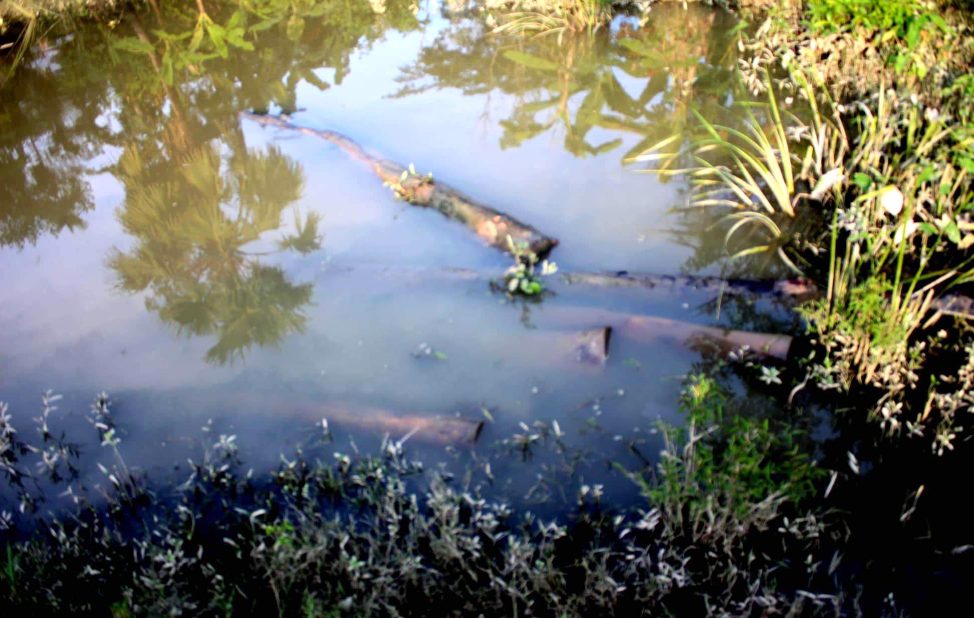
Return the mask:
[[(746, 97), (735, 82), (733, 18), (705, 7), (661, 5), (642, 26), (620, 20), (595, 35), (566, 35), (560, 42), (554, 36), (492, 36), (480, 21), (446, 15), (451, 23), (402, 67), (393, 96), (434, 89), (509, 94), (513, 107), (497, 121), (502, 148), (557, 134), (576, 157), (615, 153), (620, 164), (631, 165), (656, 146), (654, 167), (684, 167), (693, 163), (687, 144), (703, 130), (693, 110), (733, 126), (737, 120), (728, 110)], [(628, 147), (620, 151), (623, 145)], [(789, 274), (768, 260), (771, 254), (725, 264), (726, 211), (673, 205), (677, 223), (663, 232), (693, 248), (686, 270), (724, 265), (733, 276)], [(739, 233), (733, 242), (751, 246), (756, 239)]]

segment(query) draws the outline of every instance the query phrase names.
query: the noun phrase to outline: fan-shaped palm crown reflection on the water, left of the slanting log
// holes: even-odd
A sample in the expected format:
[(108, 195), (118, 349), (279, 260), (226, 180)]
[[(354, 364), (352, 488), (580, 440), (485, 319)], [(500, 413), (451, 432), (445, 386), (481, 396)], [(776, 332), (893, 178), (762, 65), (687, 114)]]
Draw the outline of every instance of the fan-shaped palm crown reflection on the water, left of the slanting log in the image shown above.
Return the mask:
[[(215, 336), (206, 351), (214, 364), (302, 332), (312, 297), (310, 283), (292, 283), (280, 267), (244, 250), (281, 227), (283, 211), (301, 197), (301, 167), (277, 148), (261, 152), (230, 141), (223, 149), (229, 153), (221, 156), (208, 142), (161, 178), (155, 167), (154, 181), (130, 145), (115, 170), (126, 188), (119, 220), (136, 238), (131, 250), (110, 259), (119, 286), (148, 292), (146, 307), (178, 333)], [(317, 214), (296, 217), (295, 228), (278, 240), (280, 250), (319, 248)]]

